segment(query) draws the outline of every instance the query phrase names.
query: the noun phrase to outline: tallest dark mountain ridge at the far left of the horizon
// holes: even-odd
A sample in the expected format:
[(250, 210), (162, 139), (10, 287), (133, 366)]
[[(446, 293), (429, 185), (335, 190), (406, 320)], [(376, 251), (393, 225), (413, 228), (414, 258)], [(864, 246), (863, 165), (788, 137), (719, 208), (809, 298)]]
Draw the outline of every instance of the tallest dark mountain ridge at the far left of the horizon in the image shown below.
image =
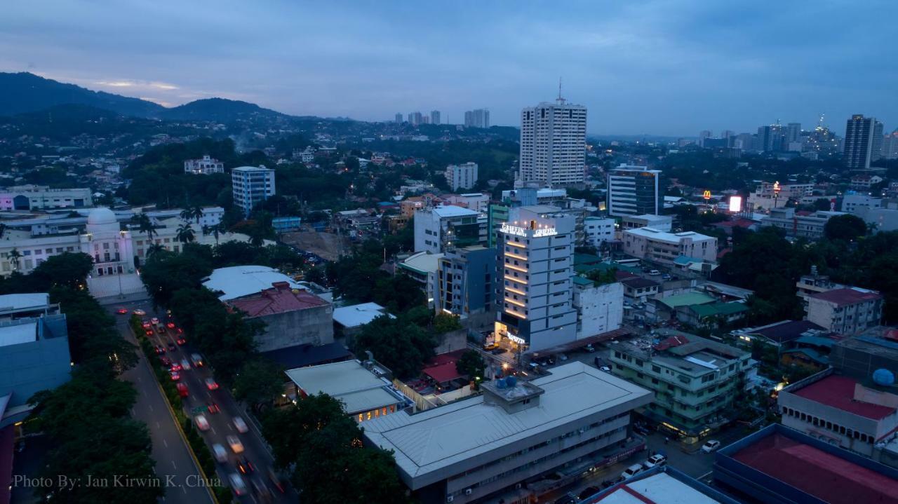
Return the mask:
[(35, 112), (54, 105), (86, 105), (123, 116), (153, 117), (164, 107), (152, 101), (91, 91), (75, 84), (57, 83), (35, 74), (0, 73), (0, 116)]

